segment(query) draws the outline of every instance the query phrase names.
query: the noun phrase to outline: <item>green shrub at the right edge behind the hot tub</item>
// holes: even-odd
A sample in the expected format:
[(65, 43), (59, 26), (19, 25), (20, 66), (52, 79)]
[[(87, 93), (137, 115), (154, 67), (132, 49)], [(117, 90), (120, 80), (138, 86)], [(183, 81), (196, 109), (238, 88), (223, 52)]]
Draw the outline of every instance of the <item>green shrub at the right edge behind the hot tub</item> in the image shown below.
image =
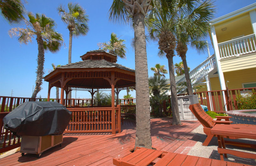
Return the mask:
[(252, 94), (241, 96), (236, 95), (237, 109), (256, 109), (256, 92), (252, 89)]

